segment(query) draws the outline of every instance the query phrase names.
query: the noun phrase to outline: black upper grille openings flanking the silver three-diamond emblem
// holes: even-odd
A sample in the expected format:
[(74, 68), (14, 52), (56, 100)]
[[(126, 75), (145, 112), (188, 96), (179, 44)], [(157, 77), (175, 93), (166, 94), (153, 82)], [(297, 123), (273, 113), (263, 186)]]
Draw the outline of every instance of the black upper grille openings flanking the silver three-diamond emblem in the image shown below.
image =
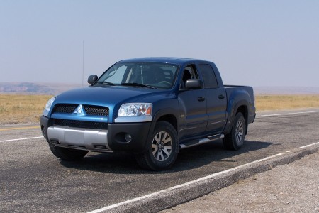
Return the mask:
[[(72, 114), (79, 104), (56, 104), (52, 113)], [(88, 115), (108, 116), (108, 107), (82, 105)]]

